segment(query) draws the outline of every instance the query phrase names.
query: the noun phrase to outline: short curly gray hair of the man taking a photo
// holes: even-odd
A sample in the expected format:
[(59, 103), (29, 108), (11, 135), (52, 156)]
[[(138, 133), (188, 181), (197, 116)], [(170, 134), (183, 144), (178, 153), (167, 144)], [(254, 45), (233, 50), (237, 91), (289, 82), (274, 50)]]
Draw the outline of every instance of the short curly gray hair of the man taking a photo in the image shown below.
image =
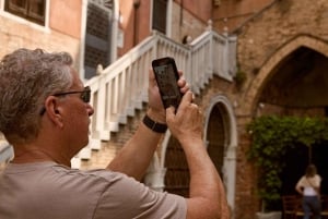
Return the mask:
[(47, 96), (71, 87), (72, 57), (17, 49), (0, 62), (0, 131), (9, 143), (34, 139)]

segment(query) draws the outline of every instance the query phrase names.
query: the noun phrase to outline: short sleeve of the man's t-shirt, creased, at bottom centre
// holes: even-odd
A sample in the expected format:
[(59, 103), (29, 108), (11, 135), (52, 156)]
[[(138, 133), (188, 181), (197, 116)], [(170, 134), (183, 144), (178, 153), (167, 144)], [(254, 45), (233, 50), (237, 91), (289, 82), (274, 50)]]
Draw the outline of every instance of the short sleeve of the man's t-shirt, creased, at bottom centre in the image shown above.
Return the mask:
[(185, 219), (186, 199), (155, 192), (125, 174), (116, 174), (98, 199), (94, 219)]

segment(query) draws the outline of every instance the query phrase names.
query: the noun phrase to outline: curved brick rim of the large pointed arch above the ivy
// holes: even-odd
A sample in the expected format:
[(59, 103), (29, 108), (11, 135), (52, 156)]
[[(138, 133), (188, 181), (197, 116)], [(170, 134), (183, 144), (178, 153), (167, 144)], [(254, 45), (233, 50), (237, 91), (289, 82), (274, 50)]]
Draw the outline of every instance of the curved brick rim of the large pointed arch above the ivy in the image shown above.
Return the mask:
[(267, 80), (272, 76), (272, 70), (279, 64), (281, 60), (283, 60), (284, 57), (292, 53), (300, 47), (307, 47), (328, 57), (327, 41), (311, 35), (297, 35), (282, 45), (277, 50), (277, 52), (262, 64), (260, 71), (249, 84), (249, 87), (247, 88), (247, 92), (244, 96), (244, 99), (249, 100), (245, 101), (245, 112), (247, 112), (247, 114), (251, 115), (256, 111), (258, 98), (265, 87)]

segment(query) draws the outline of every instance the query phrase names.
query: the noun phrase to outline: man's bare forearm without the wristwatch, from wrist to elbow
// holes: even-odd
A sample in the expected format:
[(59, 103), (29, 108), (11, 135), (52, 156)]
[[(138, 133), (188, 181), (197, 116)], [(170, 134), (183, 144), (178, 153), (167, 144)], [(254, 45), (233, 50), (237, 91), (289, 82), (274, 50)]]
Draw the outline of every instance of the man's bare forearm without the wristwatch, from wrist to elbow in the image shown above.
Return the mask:
[(200, 141), (194, 141), (194, 144), (186, 145), (185, 148), (190, 170), (188, 218), (199, 218), (197, 211), (202, 208), (202, 214), (207, 214), (202, 218), (229, 219), (224, 187), (204, 145)]

